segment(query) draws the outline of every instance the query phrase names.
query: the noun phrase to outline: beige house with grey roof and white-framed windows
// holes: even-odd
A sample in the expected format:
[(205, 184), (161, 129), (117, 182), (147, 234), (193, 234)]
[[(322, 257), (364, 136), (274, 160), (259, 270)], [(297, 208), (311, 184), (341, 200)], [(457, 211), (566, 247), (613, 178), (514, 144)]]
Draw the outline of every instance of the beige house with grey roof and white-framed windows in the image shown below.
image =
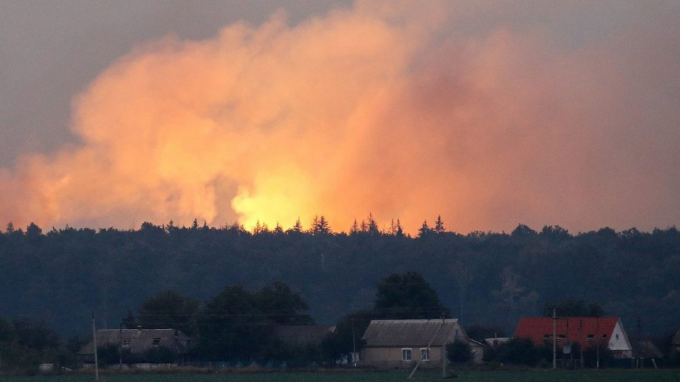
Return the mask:
[(372, 320), (363, 335), (362, 366), (377, 368), (441, 368), (446, 345), (467, 342), (474, 361), (482, 362), (484, 346), (468, 340), (457, 319)]

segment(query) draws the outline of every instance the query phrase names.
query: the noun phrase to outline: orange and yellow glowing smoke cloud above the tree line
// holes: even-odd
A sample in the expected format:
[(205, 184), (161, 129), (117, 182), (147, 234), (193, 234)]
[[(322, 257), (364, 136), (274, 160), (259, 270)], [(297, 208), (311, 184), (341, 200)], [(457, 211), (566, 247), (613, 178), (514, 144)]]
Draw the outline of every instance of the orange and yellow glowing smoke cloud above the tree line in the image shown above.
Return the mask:
[[(617, 48), (651, 44), (640, 25), (562, 50), (545, 25), (460, 26), (485, 12), (359, 1), (296, 25), (281, 12), (209, 40), (140, 44), (74, 98), (79, 144), (0, 168), (0, 219), (288, 228), (324, 215), (348, 231), (371, 212), (411, 233), (440, 214), (459, 232), (675, 224), (676, 204), (659, 212), (677, 199), (678, 170), (655, 163), (680, 163), (680, 138), (631, 106), (677, 75), (674, 52), (655, 51), (654, 75), (632, 82), (649, 55)], [(677, 129), (672, 109), (659, 129)]]

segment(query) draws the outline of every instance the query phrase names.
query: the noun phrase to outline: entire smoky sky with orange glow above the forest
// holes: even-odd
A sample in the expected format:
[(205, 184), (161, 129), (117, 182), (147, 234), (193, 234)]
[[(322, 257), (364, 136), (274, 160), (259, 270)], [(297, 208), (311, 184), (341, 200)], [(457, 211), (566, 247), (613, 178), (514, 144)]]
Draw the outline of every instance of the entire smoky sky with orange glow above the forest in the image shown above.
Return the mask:
[(667, 228), (678, 1), (0, 2), (0, 221)]

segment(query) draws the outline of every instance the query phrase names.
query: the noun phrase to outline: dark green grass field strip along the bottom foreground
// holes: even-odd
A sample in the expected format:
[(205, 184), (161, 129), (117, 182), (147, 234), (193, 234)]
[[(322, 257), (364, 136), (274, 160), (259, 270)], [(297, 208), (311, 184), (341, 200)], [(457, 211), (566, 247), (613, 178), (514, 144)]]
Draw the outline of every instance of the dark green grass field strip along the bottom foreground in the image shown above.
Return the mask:
[[(511, 370), (511, 371), (456, 371), (458, 377), (449, 381), (474, 382), (539, 382), (539, 381), (617, 381), (617, 382), (652, 382), (652, 381), (680, 381), (680, 370)], [(101, 382), (392, 382), (407, 381), (407, 371), (324, 371), (324, 372), (288, 372), (288, 373), (255, 373), (255, 374), (102, 374)], [(441, 381), (441, 371), (419, 371), (412, 381)], [(69, 376), (0, 376), (0, 381), (23, 382), (86, 382), (94, 381), (94, 374), (77, 374)]]

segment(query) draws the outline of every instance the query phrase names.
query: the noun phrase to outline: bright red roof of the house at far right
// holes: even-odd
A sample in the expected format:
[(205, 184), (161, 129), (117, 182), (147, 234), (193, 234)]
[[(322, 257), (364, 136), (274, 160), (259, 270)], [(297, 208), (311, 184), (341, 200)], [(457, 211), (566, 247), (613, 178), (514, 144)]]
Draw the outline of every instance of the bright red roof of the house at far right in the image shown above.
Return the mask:
[[(569, 342), (588, 343), (591, 339), (599, 337), (609, 342), (611, 334), (616, 328), (618, 317), (564, 317), (555, 320), (557, 339)], [(552, 317), (522, 317), (515, 330), (515, 338), (529, 338), (535, 344), (544, 341), (552, 342), (553, 318)]]

